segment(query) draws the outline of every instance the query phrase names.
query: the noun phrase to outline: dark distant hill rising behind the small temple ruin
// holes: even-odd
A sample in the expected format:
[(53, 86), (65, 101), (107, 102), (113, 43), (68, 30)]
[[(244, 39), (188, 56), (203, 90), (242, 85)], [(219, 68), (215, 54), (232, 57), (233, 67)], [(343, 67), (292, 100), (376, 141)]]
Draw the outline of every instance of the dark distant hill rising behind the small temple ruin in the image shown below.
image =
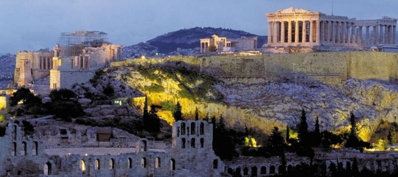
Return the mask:
[(126, 51), (125, 57), (133, 56), (134, 55), (133, 53), (138, 52), (138, 50), (140, 50), (142, 47), (148, 49), (156, 48), (157, 52), (164, 54), (176, 51), (177, 48), (192, 49), (195, 47), (199, 47), (200, 38), (211, 37), (211, 35), (213, 34), (227, 38), (240, 38), (242, 36), (245, 37), (258, 36), (257, 46), (259, 47), (261, 47), (267, 40), (267, 36), (259, 36), (242, 30), (212, 28), (212, 27), (195, 27), (195, 28), (180, 29), (178, 31), (169, 32), (167, 34), (163, 34), (153, 39), (150, 39), (145, 43), (126, 46), (124, 48), (124, 51)]

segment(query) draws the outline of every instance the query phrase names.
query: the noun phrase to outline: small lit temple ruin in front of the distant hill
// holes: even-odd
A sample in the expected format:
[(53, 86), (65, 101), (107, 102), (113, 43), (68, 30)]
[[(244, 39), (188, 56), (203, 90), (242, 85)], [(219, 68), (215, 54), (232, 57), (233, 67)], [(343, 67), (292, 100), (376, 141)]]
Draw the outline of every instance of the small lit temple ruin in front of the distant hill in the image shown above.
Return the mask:
[(218, 52), (235, 52), (257, 50), (256, 37), (241, 37), (228, 39), (212, 35), (211, 38), (200, 39), (200, 52), (209, 52), (209, 48), (214, 47)]

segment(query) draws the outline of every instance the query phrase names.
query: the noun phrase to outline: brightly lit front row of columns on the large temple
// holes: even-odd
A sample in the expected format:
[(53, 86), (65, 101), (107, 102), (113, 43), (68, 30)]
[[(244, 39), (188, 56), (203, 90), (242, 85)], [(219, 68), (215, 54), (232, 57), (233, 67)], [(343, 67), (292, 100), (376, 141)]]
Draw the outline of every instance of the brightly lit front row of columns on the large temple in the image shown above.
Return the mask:
[(320, 21), (268, 22), (268, 43), (319, 43)]

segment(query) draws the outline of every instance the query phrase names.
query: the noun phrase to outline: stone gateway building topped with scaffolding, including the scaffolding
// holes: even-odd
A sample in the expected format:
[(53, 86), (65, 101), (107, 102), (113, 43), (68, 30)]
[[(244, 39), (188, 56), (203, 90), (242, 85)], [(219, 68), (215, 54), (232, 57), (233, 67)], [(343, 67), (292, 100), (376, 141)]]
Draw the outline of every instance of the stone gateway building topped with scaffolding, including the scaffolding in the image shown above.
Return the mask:
[(54, 47), (50, 89), (68, 88), (88, 82), (106, 63), (121, 61), (122, 46), (106, 42), (106, 33), (76, 31), (61, 33)]

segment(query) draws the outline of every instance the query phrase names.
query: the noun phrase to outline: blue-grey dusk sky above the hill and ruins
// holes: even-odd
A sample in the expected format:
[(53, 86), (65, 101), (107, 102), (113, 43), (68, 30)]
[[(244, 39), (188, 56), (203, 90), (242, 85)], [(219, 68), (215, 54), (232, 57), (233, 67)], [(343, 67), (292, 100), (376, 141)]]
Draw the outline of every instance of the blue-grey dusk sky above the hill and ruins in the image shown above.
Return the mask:
[[(195, 26), (267, 34), (266, 12), (288, 7), (331, 14), (332, 0), (1, 0), (0, 53), (50, 48), (61, 32), (97, 30), (124, 46)], [(335, 15), (398, 17), (398, 0), (333, 0)]]

